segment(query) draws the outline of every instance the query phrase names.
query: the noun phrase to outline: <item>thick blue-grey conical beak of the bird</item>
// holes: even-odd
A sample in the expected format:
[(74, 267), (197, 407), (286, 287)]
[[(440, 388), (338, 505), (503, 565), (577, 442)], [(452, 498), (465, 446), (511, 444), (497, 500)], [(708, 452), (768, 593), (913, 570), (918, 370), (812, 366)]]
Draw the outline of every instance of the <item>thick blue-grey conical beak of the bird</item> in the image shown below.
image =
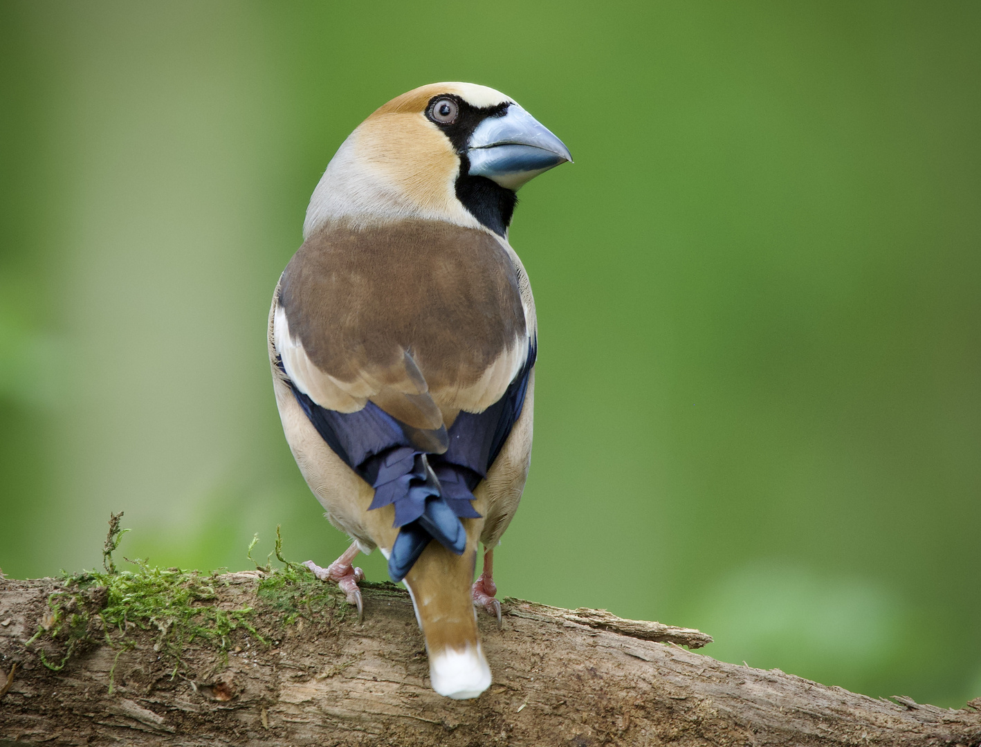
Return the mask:
[(542, 172), (572, 161), (562, 141), (517, 104), (508, 105), (503, 117), (489, 117), (477, 125), (468, 146), (471, 176), (487, 176), (515, 191)]

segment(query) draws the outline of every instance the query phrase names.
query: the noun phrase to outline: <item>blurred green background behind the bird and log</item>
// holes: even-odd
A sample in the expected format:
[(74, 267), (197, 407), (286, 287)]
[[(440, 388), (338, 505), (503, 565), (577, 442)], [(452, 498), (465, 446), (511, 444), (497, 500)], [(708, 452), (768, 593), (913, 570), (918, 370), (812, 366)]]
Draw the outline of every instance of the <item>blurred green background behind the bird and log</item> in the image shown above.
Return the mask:
[[(576, 157), (521, 193), (533, 468), (502, 595), (981, 695), (981, 5), (0, 4), (0, 567), (346, 540), (284, 442), (279, 274), (347, 133), (437, 80)], [(376, 553), (361, 564), (385, 577)]]

